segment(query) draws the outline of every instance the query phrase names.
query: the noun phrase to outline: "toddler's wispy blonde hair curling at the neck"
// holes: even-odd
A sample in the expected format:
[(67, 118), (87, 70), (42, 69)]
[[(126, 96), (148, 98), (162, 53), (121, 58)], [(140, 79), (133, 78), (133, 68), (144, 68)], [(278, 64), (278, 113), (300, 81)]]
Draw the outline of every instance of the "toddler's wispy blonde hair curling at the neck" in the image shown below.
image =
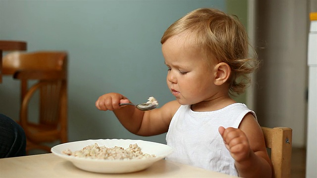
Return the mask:
[(251, 81), (249, 74), (258, 68), (259, 62), (249, 57), (248, 35), (241, 22), (217, 9), (196, 9), (169, 26), (160, 43), (185, 31), (209, 59), (230, 66), (229, 93), (243, 93)]

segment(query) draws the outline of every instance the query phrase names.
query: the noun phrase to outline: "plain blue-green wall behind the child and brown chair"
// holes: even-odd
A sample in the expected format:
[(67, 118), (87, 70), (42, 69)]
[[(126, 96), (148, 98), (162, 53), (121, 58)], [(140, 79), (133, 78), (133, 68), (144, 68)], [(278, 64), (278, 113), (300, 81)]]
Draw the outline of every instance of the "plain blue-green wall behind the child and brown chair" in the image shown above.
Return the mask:
[[(165, 134), (141, 137), (126, 131), (110, 111), (95, 107), (106, 92), (133, 102), (153, 95), (173, 100), (161, 54), (164, 30), (199, 7), (226, 11), (221, 0), (0, 0), (0, 39), (28, 43), (28, 51), (69, 54), (69, 140), (131, 138), (165, 142)], [(19, 82), (3, 77), (0, 112), (19, 112)]]

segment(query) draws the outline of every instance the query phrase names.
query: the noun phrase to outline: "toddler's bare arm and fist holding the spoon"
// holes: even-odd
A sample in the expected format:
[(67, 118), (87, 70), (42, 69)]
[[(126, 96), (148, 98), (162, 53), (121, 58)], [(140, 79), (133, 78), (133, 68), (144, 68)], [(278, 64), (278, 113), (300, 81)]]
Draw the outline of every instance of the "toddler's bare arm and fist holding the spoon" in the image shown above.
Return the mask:
[(130, 102), (119, 93), (107, 93), (98, 98), (96, 107), (103, 111), (113, 111), (120, 123), (131, 133), (150, 136), (167, 132), (170, 120), (180, 104), (175, 100), (162, 107), (141, 111), (134, 106), (119, 106), (119, 103)]

